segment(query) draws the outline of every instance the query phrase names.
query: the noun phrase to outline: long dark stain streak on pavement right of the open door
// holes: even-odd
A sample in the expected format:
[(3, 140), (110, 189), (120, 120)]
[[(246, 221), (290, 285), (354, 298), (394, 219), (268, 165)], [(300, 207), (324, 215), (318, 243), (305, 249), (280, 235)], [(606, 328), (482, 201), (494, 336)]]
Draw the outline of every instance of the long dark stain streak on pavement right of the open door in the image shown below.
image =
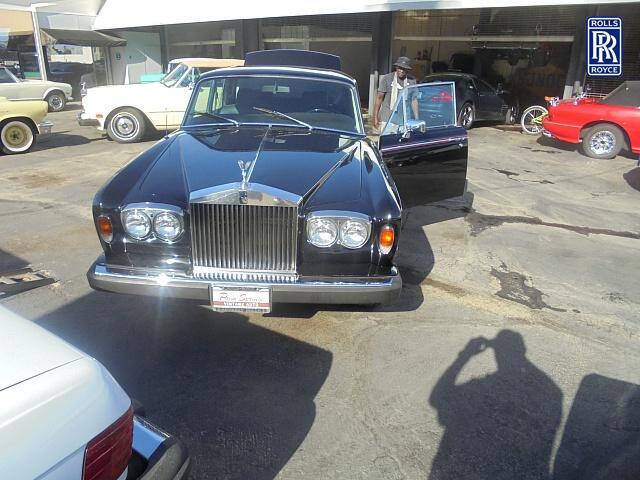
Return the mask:
[(525, 225), (540, 225), (544, 227), (561, 228), (580, 235), (609, 235), (612, 237), (632, 238), (640, 240), (640, 233), (616, 231), (608, 228), (583, 227), (577, 225), (567, 225), (565, 223), (545, 222), (538, 217), (524, 217), (518, 215), (485, 215), (478, 213), (473, 208), (464, 217), (471, 227), (471, 236), (476, 237), (488, 228), (499, 227), (505, 223), (520, 223)]

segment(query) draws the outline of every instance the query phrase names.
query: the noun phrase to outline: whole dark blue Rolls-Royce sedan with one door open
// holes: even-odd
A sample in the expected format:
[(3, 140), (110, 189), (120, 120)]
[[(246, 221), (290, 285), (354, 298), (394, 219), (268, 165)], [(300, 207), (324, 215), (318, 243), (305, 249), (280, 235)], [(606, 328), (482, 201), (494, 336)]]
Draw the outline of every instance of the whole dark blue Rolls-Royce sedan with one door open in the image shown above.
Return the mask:
[(465, 189), (455, 102), (420, 113), (453, 89), (404, 89), (374, 142), (338, 57), (254, 52), (203, 75), (181, 128), (96, 194), (90, 285), (236, 311), (393, 299), (402, 209)]

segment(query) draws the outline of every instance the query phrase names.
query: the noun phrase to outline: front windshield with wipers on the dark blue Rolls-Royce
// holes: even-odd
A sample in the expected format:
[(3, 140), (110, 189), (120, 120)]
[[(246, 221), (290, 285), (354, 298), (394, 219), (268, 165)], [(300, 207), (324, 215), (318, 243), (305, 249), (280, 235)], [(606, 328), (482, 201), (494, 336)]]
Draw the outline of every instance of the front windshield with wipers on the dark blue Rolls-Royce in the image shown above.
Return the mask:
[(355, 88), (283, 76), (221, 77), (198, 85), (185, 126), (261, 123), (363, 133)]

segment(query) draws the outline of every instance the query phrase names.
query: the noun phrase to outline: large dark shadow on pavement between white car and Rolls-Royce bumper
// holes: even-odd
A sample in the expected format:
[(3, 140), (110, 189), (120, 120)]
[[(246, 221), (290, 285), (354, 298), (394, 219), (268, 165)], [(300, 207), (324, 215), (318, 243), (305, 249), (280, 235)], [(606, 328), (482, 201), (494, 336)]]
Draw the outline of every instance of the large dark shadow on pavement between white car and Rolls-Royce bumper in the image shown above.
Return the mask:
[(36, 322), (100, 360), (181, 438), (192, 478), (274, 478), (313, 425), (332, 363), (326, 350), (190, 302), (92, 292)]

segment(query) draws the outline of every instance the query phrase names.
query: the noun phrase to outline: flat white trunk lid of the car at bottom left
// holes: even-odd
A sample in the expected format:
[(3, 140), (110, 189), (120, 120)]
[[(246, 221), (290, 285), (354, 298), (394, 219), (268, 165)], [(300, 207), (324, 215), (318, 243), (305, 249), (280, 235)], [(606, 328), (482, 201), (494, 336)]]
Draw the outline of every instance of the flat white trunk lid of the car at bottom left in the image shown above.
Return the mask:
[(86, 356), (4, 307), (0, 324), (0, 391)]

